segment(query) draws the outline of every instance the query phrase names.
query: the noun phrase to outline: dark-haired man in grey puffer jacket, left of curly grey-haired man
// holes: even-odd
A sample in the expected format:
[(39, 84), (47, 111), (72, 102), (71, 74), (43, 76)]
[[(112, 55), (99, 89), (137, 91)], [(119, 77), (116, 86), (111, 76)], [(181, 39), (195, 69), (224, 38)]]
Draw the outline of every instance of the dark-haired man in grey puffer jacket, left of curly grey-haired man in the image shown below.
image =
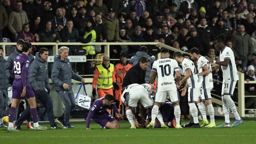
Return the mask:
[[(47, 116), (51, 124), (51, 129), (61, 129), (54, 121), (53, 105), (50, 99), (50, 83), (48, 79), (48, 49), (41, 48), (36, 53), (35, 61), (29, 68), (29, 84), (33, 88), (36, 99), (38, 99), (47, 110)], [(47, 92), (45, 91), (47, 89)], [(20, 125), (17, 121), (17, 124)]]

